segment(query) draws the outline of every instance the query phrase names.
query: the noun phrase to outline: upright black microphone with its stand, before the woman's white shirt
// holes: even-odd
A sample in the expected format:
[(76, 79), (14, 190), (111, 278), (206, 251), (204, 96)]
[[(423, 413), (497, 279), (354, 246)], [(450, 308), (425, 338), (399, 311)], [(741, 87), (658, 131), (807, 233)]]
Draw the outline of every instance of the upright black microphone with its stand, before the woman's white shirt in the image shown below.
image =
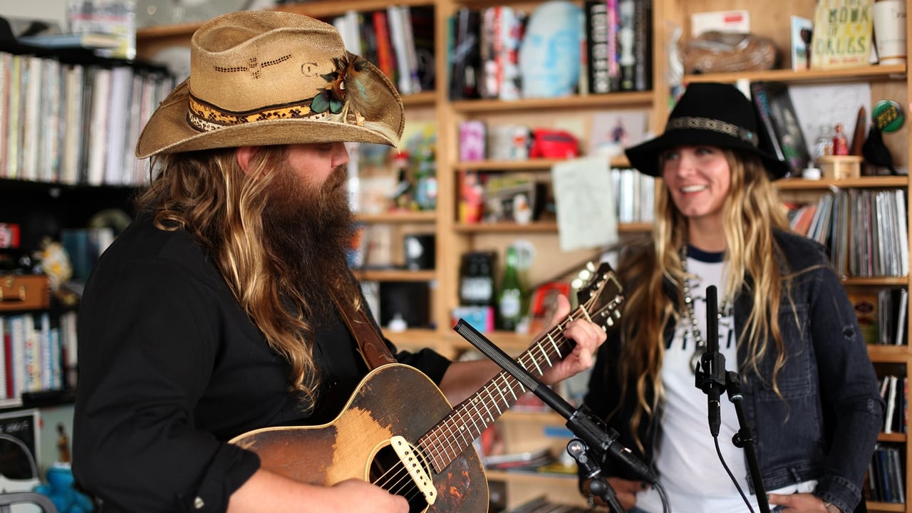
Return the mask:
[[(741, 402), (741, 378), (737, 372), (725, 371), (725, 355), (719, 351), (719, 303), (716, 286), (706, 288), (706, 352), (700, 356), (697, 368), (694, 370), (697, 388), (707, 394), (707, 408), (709, 410), (710, 434), (713, 438), (719, 436), (722, 423), (720, 413), (720, 395), (728, 391), (729, 401), (734, 404), (738, 414), (739, 431), (731, 437), (731, 443), (744, 449), (747, 457), (748, 468), (751, 472), (754, 496), (757, 497), (757, 506), (761, 513), (770, 513), (770, 504), (766, 499), (766, 489), (763, 487), (763, 478), (760, 475), (760, 464), (753, 444), (753, 434), (744, 416)], [(739, 488), (740, 489), (740, 488)]]

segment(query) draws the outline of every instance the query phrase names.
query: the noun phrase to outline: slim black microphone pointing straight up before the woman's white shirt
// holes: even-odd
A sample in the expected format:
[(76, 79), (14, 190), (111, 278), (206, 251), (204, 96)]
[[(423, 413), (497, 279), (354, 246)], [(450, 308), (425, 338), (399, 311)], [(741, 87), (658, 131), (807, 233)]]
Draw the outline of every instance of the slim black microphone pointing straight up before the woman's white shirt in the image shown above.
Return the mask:
[(725, 392), (725, 355), (719, 351), (719, 303), (716, 287), (706, 288), (706, 352), (698, 364), (697, 388), (707, 395), (710, 434), (719, 435), (722, 424), (720, 396)]

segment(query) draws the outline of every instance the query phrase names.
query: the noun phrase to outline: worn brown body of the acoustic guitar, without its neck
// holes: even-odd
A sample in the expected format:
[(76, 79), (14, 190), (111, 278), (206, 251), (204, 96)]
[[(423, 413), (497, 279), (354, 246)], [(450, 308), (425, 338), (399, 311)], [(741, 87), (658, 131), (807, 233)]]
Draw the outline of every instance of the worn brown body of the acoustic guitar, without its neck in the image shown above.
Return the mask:
[[(416, 444), (451, 410), (434, 382), (394, 363), (370, 372), (329, 424), (258, 429), (232, 443), (258, 454), (264, 468), (305, 483), (334, 485), (353, 477), (374, 482), (375, 458), (393, 435)], [(472, 445), (431, 478), (436, 501), (428, 506), (407, 497), (414, 502), (411, 511), (487, 511), (488, 483)]]

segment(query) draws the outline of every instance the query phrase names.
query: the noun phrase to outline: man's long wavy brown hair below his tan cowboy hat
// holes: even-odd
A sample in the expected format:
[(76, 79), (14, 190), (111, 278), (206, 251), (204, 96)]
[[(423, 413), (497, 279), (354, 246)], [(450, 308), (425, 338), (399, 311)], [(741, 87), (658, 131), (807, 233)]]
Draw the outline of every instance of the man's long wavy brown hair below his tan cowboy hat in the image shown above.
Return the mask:
[[(187, 230), (220, 270), (241, 307), (274, 351), (291, 366), (290, 389), (306, 409), (316, 401), (319, 373), (312, 353), (313, 301), (288, 263), (267, 244), (264, 211), (281, 183), (287, 147), (265, 146), (244, 173), (236, 149), (165, 154), (158, 176), (137, 200), (163, 230)], [(285, 173), (287, 174), (287, 173)], [(272, 185), (272, 187), (271, 187)], [(292, 266), (294, 267), (294, 266)], [(343, 277), (333, 279), (343, 280)], [(326, 298), (324, 298), (326, 299)]]

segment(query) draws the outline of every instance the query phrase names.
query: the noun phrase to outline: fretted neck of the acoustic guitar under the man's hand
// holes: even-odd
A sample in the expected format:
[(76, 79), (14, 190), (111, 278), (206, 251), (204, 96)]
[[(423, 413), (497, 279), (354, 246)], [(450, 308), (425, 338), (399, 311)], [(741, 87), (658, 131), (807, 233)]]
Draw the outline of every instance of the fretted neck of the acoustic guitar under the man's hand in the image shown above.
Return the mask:
[[(578, 315), (576, 312), (579, 312)], [(586, 315), (585, 309), (577, 309), (576, 312), (535, 339), (516, 361), (536, 377), (541, 377), (557, 361), (563, 360), (575, 346), (573, 340), (564, 335), (566, 324)], [(521, 382), (502, 371), (478, 392), (457, 404), (449, 415), (420, 438), (418, 445), (434, 469), (440, 472), (526, 392)]]

